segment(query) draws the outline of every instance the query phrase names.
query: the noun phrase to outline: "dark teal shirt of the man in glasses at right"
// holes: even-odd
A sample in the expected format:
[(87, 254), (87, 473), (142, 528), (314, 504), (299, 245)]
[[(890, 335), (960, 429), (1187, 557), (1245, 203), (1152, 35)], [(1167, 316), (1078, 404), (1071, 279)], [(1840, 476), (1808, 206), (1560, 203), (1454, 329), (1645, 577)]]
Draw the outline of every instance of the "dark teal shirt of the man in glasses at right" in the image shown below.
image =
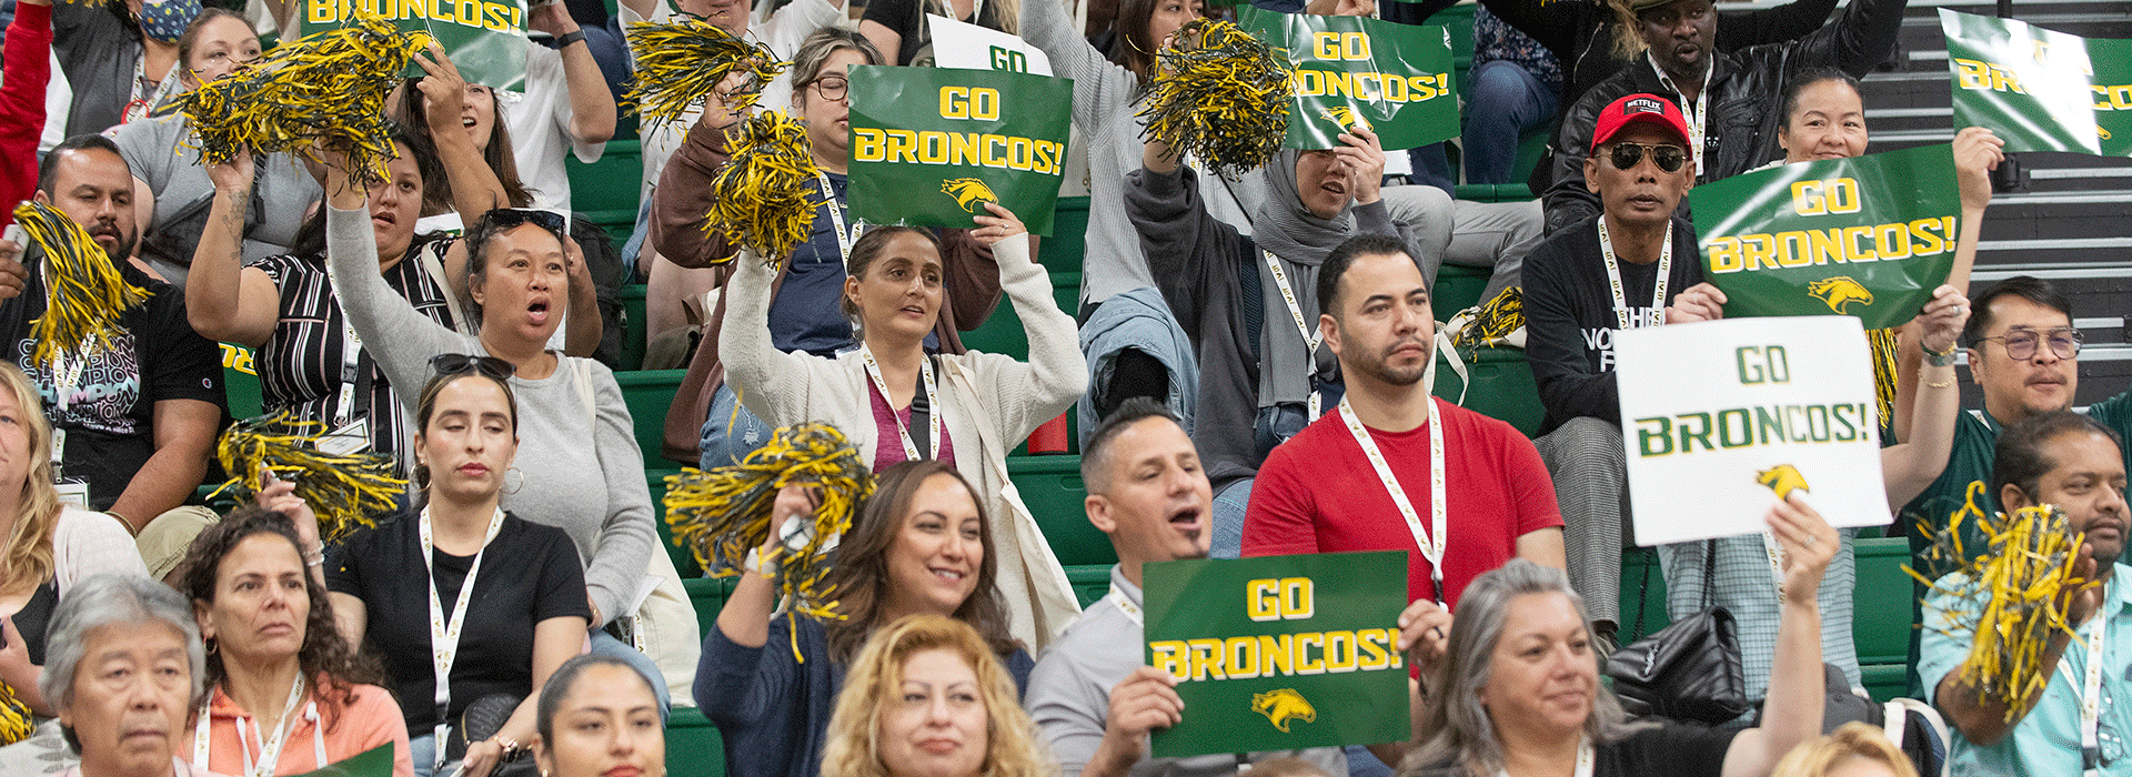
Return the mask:
[[(2132, 390), (2106, 398), (2102, 402), (2089, 404), (2087, 417), (2117, 430), (2119, 439), (2132, 436)], [(1910, 539), (1910, 562), (1925, 577), (1938, 579), (1940, 575), (1951, 573), (1947, 564), (1927, 562), (1925, 549), (1932, 547), (1932, 536), (1947, 526), (1947, 515), (1951, 515), (1953, 511), (1961, 509), (1961, 505), (1968, 502), (1970, 483), (1985, 483), (1985, 487), (1991, 485), (1991, 453), (1998, 447), (1998, 434), (2000, 434), (2000, 424), (1996, 417), (1991, 417), (1991, 413), (1985, 411), (1961, 413), (1961, 417), (1955, 419), (1955, 449), (1947, 453), (1947, 468), (1940, 470), (1940, 477), (1934, 479), (1923, 494), (1917, 494), (1917, 498), (1904, 505), (1902, 513), (1895, 513), (1895, 530)], [(2126, 447), (2126, 468), (2132, 470), (2132, 447)], [(1998, 511), (1996, 496), (1985, 494), (1978, 500), (1983, 505), (1976, 507), (1987, 511)], [(1919, 524), (1923, 524), (1925, 530), (1919, 530)], [(1961, 551), (1966, 560), (1981, 556), (1985, 549), (1987, 543), (1985, 536), (1976, 530), (1976, 524), (1964, 524)], [(1921, 600), (1923, 596), (1925, 588), (1917, 585), (1917, 596), (1912, 596), (1912, 602)], [(1917, 605), (1910, 605), (1910, 622), (1912, 624), (1923, 622), (1921, 615), (1923, 613), (1917, 609)], [(1929, 698), (1925, 696), (1925, 688), (1919, 677), (1919, 658), (1921, 658), (1919, 632), (1912, 630), (1908, 696)]]

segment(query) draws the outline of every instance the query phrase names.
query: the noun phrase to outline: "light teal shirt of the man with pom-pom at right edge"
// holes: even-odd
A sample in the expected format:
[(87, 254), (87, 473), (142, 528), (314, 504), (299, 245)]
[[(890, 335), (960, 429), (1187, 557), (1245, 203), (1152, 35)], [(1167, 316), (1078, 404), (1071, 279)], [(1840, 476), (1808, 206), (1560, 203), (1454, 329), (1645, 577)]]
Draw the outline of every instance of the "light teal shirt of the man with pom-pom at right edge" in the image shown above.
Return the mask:
[[(2104, 598), (2104, 649), (2102, 649), (2102, 715), (2098, 745), (2102, 749), (2104, 775), (2132, 775), (2132, 585), (2123, 581), (2132, 566), (2117, 564)], [(1966, 579), (1949, 575), (1940, 588), (1961, 585)], [(1925, 656), (1919, 671), (1934, 685), (1953, 673), (1970, 656), (1972, 634), (1949, 624), (1942, 607), (1964, 607), (1957, 596), (1934, 592), (1925, 605)], [(2083, 628), (2085, 632), (2085, 628)], [(1949, 728), (1947, 766), (1955, 775), (2015, 775), (2015, 777), (2074, 777), (2081, 773), (2081, 683), (2087, 673), (2087, 649), (2081, 643), (2066, 647), (2057, 660), (2051, 683), (2042, 690), (2042, 700), (2030, 709), (2028, 717), (2015, 724), (1998, 745), (1976, 745)]]

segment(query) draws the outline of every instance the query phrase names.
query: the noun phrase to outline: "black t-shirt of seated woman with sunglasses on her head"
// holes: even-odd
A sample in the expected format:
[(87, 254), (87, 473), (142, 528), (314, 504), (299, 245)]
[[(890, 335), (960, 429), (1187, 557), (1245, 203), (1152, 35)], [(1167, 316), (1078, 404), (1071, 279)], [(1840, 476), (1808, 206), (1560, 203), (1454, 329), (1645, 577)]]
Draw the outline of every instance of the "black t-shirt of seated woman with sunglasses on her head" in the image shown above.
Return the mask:
[[(561, 528), (505, 515), (497, 539), (482, 553), (467, 622), (458, 632), (458, 658), (452, 662), (450, 717), (488, 694), (533, 692), (535, 624), (550, 617), (593, 617), (584, 600), (578, 547)], [(437, 602), (450, 619), (473, 556), (435, 551), (435, 564)], [(429, 579), (416, 513), (350, 534), (333, 564), (326, 564), (326, 588), (362, 600), (369, 619), (362, 645), (384, 656), (392, 692), (407, 717), (407, 734), (429, 734), (437, 726), (437, 671), (431, 664)]]

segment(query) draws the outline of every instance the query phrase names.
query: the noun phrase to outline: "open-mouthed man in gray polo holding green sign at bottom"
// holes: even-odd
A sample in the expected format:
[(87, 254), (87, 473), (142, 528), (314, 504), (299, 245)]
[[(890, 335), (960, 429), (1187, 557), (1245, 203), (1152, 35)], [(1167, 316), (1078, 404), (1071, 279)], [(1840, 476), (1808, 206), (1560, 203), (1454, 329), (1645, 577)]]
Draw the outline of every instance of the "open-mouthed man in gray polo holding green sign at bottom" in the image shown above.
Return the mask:
[[(1409, 262), (1411, 270), (1411, 262)], [(1141, 649), (1141, 566), (1207, 558), (1213, 487), (1177, 415), (1136, 396), (1089, 432), (1081, 449), (1087, 522), (1111, 536), (1111, 594), (1089, 605), (1030, 673), (1025, 705), (1068, 777), (1237, 775), (1237, 756), (1147, 758), (1147, 732), (1183, 715), (1177, 681)], [(1339, 747), (1251, 754), (1301, 756), (1345, 775)]]

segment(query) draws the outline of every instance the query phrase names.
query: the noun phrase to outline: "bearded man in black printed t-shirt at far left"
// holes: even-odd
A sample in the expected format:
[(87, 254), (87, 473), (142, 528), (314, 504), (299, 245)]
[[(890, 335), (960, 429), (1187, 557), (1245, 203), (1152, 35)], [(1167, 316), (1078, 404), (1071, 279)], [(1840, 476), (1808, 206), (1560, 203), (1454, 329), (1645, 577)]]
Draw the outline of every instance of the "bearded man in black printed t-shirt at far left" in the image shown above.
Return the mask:
[[(58, 453), (53, 473), (87, 483), (87, 507), (141, 532), (183, 505), (207, 475), (226, 402), (220, 351), (192, 332), (181, 292), (126, 262), (141, 232), (134, 179), (117, 145), (96, 134), (68, 138), (45, 155), (36, 181), (36, 202), (75, 219), (102, 247), (90, 262), (111, 262), (149, 298), (119, 315), (124, 334), (111, 349), (83, 364), (66, 343), (60, 364), (38, 364), (30, 324), (49, 304), (45, 255), (0, 241), (4, 275), (26, 272), (21, 292), (0, 302), (0, 353), (45, 396)], [(11, 266), (17, 258), (23, 262)]]

